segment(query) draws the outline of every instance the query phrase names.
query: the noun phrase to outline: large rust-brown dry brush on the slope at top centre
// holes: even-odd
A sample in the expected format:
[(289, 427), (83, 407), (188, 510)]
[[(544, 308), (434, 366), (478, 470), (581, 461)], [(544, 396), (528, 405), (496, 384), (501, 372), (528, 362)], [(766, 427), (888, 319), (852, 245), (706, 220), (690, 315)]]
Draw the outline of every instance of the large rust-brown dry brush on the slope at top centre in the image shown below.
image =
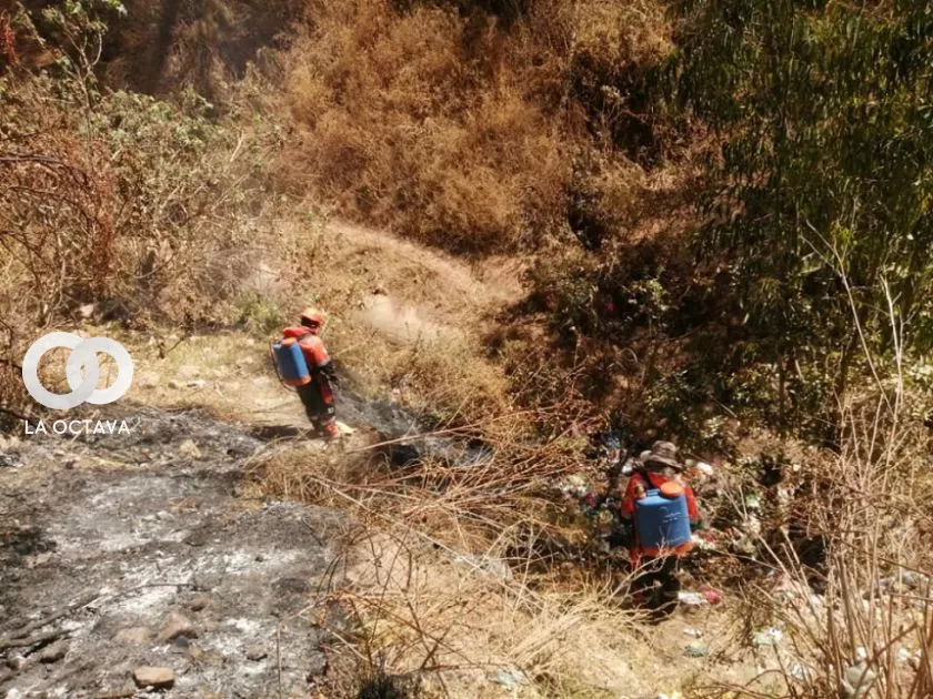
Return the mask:
[[(621, 68), (589, 75), (614, 81), (641, 70), (663, 48), (651, 29), (660, 20), (555, 0), (504, 21), (465, 4), (311, 3), (309, 30), (287, 61), (299, 129), (283, 179), (449, 250), (536, 247), (568, 229), (576, 154), (605, 151), (614, 161), (606, 171), (629, 170), (603, 138), (619, 114), (588, 123), (604, 100), (574, 101), (578, 59), (611, 44), (612, 61), (626, 57)], [(610, 201), (619, 190), (608, 189), (606, 206), (624, 206)]]

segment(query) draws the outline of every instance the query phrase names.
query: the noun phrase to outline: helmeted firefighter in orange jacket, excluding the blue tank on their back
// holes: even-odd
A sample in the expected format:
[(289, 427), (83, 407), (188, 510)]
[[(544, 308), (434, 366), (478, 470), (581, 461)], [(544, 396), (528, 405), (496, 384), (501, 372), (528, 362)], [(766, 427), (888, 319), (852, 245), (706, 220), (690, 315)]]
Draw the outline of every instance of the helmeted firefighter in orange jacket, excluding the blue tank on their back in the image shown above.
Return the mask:
[(324, 341), (318, 335), (323, 325), (323, 315), (315, 308), (305, 308), (299, 314), (299, 320), (301, 325), (282, 331), (284, 340), (281, 344), (285, 345), (290, 341), (298, 343), (309, 375), (292, 385), (314, 429), (327, 437), (337, 437), (340, 433), (334, 417), (333, 386), (338, 378)]

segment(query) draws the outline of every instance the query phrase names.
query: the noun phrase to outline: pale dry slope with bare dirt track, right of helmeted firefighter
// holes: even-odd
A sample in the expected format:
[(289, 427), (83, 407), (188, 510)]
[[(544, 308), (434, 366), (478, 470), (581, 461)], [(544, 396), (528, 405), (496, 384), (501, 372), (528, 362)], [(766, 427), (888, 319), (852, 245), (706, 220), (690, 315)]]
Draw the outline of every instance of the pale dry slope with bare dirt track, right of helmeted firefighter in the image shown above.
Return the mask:
[[(443, 423), (509, 409), (509, 383), (484, 356), (481, 332), (504, 292), (469, 267), (331, 223), (321, 212), (280, 220), (275, 252), (281, 267), (263, 297), (284, 320), (304, 305), (321, 306), (323, 336), (354, 388)], [(367, 312), (373, 298), (397, 307), (373, 317)]]

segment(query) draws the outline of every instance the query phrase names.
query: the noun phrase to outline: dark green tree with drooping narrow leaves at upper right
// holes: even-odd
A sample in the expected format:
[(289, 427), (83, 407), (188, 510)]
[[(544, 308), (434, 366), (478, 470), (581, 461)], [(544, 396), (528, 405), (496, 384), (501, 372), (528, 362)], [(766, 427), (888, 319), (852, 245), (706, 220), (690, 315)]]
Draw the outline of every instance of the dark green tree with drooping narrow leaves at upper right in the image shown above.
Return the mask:
[(743, 367), (775, 368), (790, 422), (835, 405), (863, 350), (890, 354), (885, 288), (905, 348), (933, 346), (933, 3), (676, 9), (679, 104), (718, 146), (708, 300), (741, 318)]

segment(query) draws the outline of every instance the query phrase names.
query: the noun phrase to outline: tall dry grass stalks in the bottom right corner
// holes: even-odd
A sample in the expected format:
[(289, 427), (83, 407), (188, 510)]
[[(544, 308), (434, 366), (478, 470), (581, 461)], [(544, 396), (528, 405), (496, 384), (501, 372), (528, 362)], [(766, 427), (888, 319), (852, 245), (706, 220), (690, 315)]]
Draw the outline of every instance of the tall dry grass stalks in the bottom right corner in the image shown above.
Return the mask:
[[(847, 283), (841, 261), (839, 273)], [(824, 560), (797, 556), (786, 529), (765, 545), (780, 585), (763, 598), (791, 641), (778, 654), (785, 696), (933, 692), (931, 436), (907, 408), (919, 396), (905, 388), (903, 327), (887, 298), (893, 361), (885, 366), (865, 347), (874, 382), (840, 408), (840, 452), (820, 454), (799, 476), (792, 524), (820, 537)]]

